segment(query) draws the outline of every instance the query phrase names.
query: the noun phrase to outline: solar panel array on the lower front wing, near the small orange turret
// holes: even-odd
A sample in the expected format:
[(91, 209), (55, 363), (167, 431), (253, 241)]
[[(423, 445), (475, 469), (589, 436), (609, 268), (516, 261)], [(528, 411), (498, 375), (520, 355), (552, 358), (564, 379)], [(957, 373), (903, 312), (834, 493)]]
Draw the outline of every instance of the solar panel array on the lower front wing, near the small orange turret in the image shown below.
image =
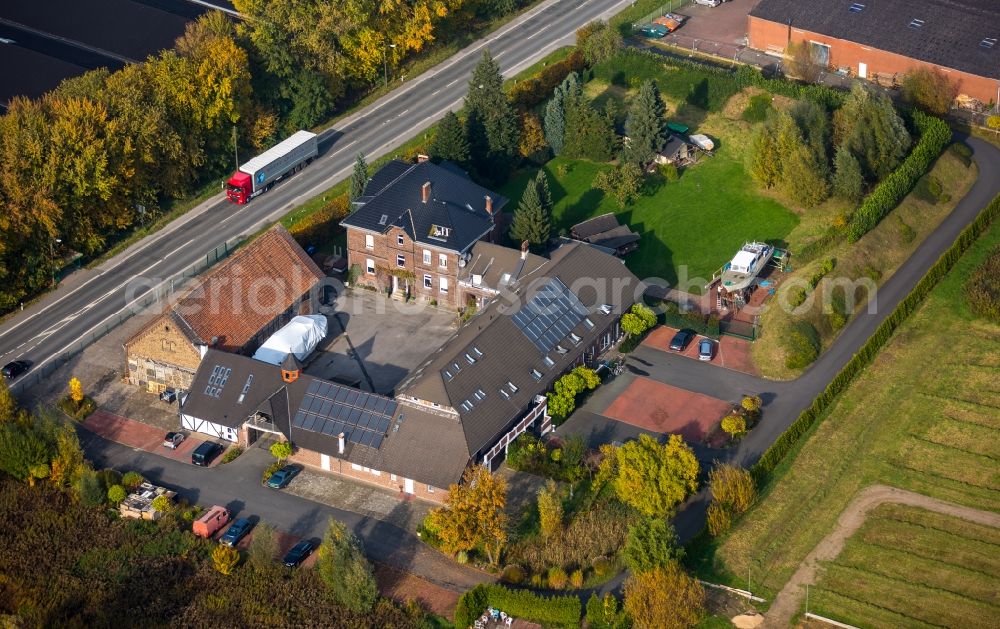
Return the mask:
[(314, 380), (292, 426), (331, 437), (344, 433), (347, 441), (377, 449), (389, 431), (396, 406), (395, 401), (375, 393)]

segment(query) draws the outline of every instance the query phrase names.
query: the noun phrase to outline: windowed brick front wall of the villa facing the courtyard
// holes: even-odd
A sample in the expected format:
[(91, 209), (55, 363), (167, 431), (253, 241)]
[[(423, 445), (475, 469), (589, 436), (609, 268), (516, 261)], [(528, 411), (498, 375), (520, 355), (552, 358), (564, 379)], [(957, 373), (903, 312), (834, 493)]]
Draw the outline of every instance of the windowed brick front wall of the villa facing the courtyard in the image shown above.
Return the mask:
[[(372, 236), (373, 247), (365, 246), (365, 236)], [(402, 236), (402, 244), (400, 244)], [(424, 251), (430, 253), (430, 264), (424, 263)], [(444, 267), (441, 266), (441, 256), (445, 256)], [(403, 266), (397, 264), (397, 256), (403, 256)], [(458, 290), (458, 254), (450, 251), (442, 251), (427, 245), (415, 243), (398, 227), (393, 227), (386, 234), (369, 234), (358, 229), (348, 228), (347, 230), (347, 261), (349, 266), (355, 266), (361, 270), (357, 283), (374, 286), (379, 291), (384, 292), (387, 286), (391, 286), (392, 278), (382, 279), (366, 272), (367, 261), (372, 260), (376, 267), (387, 269), (404, 269), (413, 273), (414, 280), (410, 286), (410, 293), (420, 300), (436, 300), (443, 307), (457, 307), (459, 301)], [(424, 285), (424, 275), (430, 276), (430, 287)], [(441, 291), (441, 280), (447, 280), (447, 292)], [(402, 288), (403, 281), (399, 286)]]

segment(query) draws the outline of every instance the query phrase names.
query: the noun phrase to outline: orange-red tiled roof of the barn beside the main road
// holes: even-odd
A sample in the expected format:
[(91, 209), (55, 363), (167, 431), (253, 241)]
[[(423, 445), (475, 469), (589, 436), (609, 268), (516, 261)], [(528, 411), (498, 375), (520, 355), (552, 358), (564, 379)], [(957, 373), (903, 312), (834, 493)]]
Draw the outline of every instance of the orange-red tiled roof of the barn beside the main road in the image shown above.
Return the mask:
[[(202, 275), (171, 309), (194, 343), (238, 350), (325, 276), (276, 225)], [(257, 303), (254, 303), (256, 300)]]

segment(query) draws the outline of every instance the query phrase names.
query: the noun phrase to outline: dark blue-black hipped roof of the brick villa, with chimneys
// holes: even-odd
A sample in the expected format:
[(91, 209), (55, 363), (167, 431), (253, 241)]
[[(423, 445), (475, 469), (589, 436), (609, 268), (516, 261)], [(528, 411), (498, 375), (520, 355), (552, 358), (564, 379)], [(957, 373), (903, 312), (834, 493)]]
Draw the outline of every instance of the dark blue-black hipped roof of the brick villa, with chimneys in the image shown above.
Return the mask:
[[(427, 182), (431, 199), (424, 203)], [(392, 161), (375, 173), (365, 196), (355, 203), (357, 209), (341, 224), (377, 233), (401, 227), (416, 242), (465, 251), (493, 228), (493, 217), (486, 211), (487, 196), (494, 214), (507, 204), (505, 197), (432, 162)], [(447, 228), (448, 234), (436, 236), (435, 226)]]

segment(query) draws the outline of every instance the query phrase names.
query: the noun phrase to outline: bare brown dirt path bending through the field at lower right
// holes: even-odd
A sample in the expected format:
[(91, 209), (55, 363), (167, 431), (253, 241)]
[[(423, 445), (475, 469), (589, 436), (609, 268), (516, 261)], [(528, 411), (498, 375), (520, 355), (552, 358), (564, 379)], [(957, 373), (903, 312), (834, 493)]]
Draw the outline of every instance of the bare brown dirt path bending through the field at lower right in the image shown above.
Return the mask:
[(905, 489), (897, 489), (887, 485), (872, 485), (863, 489), (847, 505), (847, 508), (837, 518), (837, 524), (833, 531), (824, 537), (816, 545), (816, 548), (812, 549), (812, 552), (806, 555), (799, 569), (795, 571), (795, 574), (788, 580), (785, 587), (781, 588), (781, 591), (778, 592), (774, 603), (764, 615), (766, 627), (784, 628), (791, 624), (792, 616), (799, 610), (799, 606), (802, 604), (802, 599), (805, 596), (804, 586), (816, 583), (820, 562), (836, 558), (840, 554), (840, 551), (843, 550), (844, 542), (847, 541), (847, 538), (854, 535), (861, 528), (861, 525), (864, 524), (868, 513), (875, 507), (885, 503), (919, 507), (928, 511), (969, 520), (976, 524), (1000, 528), (1000, 514), (962, 507), (951, 502), (906, 491)]

